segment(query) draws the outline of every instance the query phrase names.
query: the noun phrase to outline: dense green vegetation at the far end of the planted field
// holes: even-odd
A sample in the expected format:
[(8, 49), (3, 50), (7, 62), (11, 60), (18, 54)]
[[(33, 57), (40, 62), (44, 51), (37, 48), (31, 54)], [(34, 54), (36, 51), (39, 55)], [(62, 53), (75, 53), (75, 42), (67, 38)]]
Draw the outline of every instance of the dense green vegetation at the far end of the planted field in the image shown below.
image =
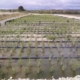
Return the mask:
[[(14, 21), (11, 21), (11, 23), (28, 23), (28, 22), (67, 22), (67, 18), (54, 16), (54, 15), (29, 15), (20, 19), (16, 19)], [(75, 20), (69, 19), (69, 22), (73, 22)]]

